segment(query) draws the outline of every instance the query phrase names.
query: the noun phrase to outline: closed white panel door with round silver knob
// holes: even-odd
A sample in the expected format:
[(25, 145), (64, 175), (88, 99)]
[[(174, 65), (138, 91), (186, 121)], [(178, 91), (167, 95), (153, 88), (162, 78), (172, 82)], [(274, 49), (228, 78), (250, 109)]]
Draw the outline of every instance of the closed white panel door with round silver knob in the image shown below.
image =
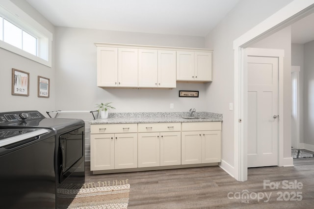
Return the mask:
[(278, 165), (278, 58), (248, 56), (248, 167)]

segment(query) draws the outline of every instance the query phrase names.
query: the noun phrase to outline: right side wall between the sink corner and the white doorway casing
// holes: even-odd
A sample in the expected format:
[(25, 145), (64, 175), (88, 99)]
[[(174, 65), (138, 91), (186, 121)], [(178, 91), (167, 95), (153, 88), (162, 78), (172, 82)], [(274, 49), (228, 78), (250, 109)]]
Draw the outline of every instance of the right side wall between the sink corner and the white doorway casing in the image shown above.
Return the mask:
[(234, 112), (234, 51), (233, 41), (253, 26), (286, 6), (292, 0), (241, 0), (235, 8), (206, 37), (206, 47), (214, 50), (213, 78), (207, 90), (209, 109), (223, 114), (222, 165), (235, 175)]

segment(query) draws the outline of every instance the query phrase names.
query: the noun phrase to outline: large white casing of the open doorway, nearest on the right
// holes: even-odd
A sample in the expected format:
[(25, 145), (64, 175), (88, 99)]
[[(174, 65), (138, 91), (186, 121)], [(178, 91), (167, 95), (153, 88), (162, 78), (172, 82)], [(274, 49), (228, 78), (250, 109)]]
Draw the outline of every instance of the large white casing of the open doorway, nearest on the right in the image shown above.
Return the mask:
[[(238, 181), (247, 180), (247, 140), (245, 137), (247, 134), (247, 114), (245, 114), (247, 109), (247, 98), (245, 97), (247, 77), (244, 69), (244, 48), (291, 25), (291, 23), (313, 13), (313, 11), (314, 0), (293, 0), (234, 41), (234, 177)], [(279, 85), (282, 86), (283, 83), (279, 82)], [(281, 94), (281, 96), (283, 95)], [(283, 116), (281, 112), (279, 114)], [(281, 155), (283, 150), (279, 153)]]

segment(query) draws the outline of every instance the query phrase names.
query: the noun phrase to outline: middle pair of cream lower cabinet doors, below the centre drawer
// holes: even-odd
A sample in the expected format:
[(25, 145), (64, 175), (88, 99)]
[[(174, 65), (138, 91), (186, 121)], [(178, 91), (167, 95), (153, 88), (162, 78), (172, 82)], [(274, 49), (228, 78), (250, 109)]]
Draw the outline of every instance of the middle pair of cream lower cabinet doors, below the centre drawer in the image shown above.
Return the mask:
[(181, 131), (138, 133), (138, 167), (181, 164)]

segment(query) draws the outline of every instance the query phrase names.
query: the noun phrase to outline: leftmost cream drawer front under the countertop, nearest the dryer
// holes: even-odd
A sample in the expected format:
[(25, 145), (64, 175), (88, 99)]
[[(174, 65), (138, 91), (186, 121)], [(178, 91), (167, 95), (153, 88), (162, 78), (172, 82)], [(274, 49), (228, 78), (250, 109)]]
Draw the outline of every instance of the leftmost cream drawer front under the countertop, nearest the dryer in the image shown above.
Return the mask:
[(136, 133), (137, 124), (92, 124), (90, 133)]

